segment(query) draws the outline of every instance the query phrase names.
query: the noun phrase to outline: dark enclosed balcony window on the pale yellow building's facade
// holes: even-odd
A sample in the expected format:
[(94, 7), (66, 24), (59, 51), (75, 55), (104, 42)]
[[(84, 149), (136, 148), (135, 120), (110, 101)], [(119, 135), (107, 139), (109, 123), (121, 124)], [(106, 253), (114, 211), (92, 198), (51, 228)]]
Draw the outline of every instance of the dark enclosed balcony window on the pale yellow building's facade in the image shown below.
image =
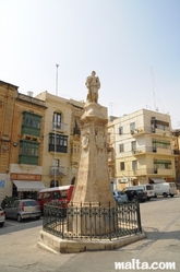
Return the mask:
[[(55, 135), (56, 135), (56, 149), (55, 149)], [(49, 151), (52, 152), (68, 152), (68, 135), (49, 133)]]

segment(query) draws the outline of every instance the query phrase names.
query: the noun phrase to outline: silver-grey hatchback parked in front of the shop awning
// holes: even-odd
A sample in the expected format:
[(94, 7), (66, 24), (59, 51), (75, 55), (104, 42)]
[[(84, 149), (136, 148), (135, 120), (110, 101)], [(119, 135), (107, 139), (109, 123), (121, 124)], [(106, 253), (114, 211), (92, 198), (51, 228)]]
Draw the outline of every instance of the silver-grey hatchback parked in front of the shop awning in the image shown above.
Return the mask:
[(21, 222), (24, 218), (40, 218), (41, 212), (39, 205), (34, 199), (15, 200), (4, 208), (5, 217), (16, 218)]

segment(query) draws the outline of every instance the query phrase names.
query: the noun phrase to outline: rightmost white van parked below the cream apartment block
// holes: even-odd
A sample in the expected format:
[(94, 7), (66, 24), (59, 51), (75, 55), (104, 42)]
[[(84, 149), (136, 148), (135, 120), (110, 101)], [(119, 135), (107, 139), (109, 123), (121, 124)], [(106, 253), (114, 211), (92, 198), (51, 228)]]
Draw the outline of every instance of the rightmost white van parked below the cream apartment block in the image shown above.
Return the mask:
[(153, 187), (156, 196), (164, 196), (164, 198), (170, 196), (172, 198), (177, 194), (177, 187), (175, 182), (154, 184)]

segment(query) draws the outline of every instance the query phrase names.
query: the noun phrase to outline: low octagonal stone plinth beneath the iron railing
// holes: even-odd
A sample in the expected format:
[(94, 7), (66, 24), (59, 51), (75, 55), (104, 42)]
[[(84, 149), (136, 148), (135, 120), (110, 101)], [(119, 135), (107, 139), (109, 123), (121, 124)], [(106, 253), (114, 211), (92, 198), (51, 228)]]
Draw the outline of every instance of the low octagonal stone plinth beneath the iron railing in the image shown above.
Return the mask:
[(37, 246), (53, 253), (77, 253), (84, 251), (113, 250), (144, 238), (145, 233), (115, 240), (65, 240), (40, 230)]

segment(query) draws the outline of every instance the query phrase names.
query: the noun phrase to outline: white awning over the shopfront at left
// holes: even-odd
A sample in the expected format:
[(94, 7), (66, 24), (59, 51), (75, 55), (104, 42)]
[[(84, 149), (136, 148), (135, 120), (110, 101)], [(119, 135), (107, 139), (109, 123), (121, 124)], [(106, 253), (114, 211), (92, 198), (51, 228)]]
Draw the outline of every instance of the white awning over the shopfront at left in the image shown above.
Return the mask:
[(39, 191), (46, 186), (41, 181), (13, 180), (17, 191)]

